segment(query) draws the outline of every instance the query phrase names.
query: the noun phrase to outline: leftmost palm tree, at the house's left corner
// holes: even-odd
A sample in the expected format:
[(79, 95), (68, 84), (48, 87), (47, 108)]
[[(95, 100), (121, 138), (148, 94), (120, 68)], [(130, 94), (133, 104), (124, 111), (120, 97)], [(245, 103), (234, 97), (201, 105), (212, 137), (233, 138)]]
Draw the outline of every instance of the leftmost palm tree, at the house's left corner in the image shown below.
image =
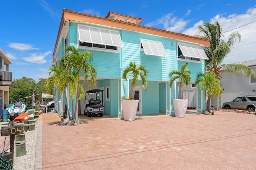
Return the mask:
[[(64, 97), (67, 100), (67, 94), (66, 94), (66, 86), (70, 82), (70, 77), (63, 66), (59, 67), (50, 67), (48, 68), (48, 77), (45, 80), (45, 88), (48, 92), (52, 89), (52, 86), (54, 85), (56, 90), (60, 93), (64, 92)], [(66, 104), (68, 108), (68, 104)], [(60, 106), (59, 106), (60, 107)], [(69, 109), (67, 109), (68, 113), (68, 119), (71, 119)]]

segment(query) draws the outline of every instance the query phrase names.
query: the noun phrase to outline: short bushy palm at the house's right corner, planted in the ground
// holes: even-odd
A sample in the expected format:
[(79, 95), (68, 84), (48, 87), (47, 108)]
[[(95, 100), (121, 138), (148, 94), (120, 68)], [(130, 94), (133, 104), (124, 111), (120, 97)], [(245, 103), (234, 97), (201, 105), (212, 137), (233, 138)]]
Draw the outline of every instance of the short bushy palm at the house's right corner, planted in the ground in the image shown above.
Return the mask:
[(215, 96), (218, 97), (223, 93), (219, 80), (216, 78), (214, 72), (209, 72), (208, 74), (200, 72), (197, 75), (195, 84), (196, 87), (200, 86), (201, 90), (205, 90), (205, 96), (208, 96), (206, 101), (206, 110), (210, 111), (211, 96), (214, 98)]

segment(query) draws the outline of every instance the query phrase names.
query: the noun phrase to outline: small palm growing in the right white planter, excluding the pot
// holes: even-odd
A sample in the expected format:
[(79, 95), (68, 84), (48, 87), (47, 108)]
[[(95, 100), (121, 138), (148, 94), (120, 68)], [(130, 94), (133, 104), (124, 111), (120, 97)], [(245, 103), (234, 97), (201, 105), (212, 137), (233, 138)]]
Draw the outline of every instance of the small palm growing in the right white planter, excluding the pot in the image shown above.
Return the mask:
[(172, 88), (172, 83), (176, 79), (180, 78), (178, 99), (183, 98), (183, 93), (182, 93), (183, 85), (188, 86), (188, 83), (191, 81), (191, 78), (190, 78), (190, 75), (189, 75), (189, 74), (191, 74), (191, 71), (188, 70), (188, 68), (186, 68), (187, 65), (188, 65), (188, 63), (182, 64), (182, 66), (180, 67), (180, 71), (173, 70), (169, 73), (169, 78), (171, 78), (173, 75), (176, 75), (176, 76), (172, 77), (172, 79), (171, 79), (170, 88)]

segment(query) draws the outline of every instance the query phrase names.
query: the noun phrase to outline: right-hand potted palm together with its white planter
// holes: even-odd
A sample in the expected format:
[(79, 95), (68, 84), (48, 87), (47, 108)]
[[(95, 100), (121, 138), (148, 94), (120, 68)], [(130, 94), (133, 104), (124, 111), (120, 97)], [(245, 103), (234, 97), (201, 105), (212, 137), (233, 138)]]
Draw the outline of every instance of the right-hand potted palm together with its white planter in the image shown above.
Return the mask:
[(190, 74), (191, 71), (186, 68), (186, 64), (182, 64), (180, 67), (180, 71), (173, 70), (169, 73), (169, 78), (171, 78), (173, 75), (176, 75), (172, 77), (171, 82), (170, 82), (170, 88), (172, 88), (172, 83), (180, 78), (180, 85), (179, 85), (179, 92), (178, 92), (178, 99), (173, 99), (173, 104), (174, 104), (174, 114), (176, 117), (185, 117), (186, 115), (186, 109), (188, 106), (188, 100), (183, 100), (183, 93), (182, 89), (183, 86), (188, 86), (188, 83), (191, 81)]

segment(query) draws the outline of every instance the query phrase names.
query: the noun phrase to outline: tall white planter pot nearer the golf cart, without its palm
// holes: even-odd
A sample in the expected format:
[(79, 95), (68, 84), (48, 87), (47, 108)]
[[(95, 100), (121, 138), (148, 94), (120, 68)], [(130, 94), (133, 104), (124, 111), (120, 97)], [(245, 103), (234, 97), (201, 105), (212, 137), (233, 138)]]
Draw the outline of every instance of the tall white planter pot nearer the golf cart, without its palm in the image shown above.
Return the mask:
[(124, 115), (124, 120), (134, 121), (139, 100), (123, 100), (121, 99), (122, 112)]

